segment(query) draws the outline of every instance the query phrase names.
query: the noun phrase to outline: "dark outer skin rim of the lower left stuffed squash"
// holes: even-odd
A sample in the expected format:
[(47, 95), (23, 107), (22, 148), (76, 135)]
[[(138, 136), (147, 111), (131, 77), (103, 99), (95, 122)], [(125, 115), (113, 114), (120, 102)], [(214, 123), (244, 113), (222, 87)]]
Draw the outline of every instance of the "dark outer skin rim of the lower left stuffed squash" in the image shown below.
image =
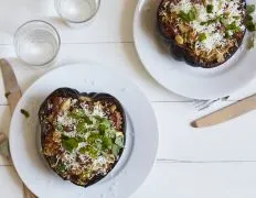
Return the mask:
[[(125, 110), (121, 106), (121, 103), (115, 98), (113, 97), (111, 95), (108, 95), (108, 94), (97, 94), (97, 92), (90, 92), (90, 94), (87, 94), (87, 92), (79, 92), (77, 91), (76, 89), (71, 89), (71, 88), (58, 88), (56, 89), (55, 91), (53, 91), (44, 101), (43, 103), (41, 105), (40, 107), (40, 110), (39, 110), (39, 121), (40, 121), (40, 128), (41, 128), (41, 146), (43, 148), (44, 146), (44, 140), (45, 140), (45, 134), (49, 133), (51, 131), (51, 128), (49, 125), (46, 125), (44, 123), (44, 118), (49, 112), (49, 109), (47, 109), (47, 102), (49, 100), (51, 100), (51, 98), (53, 97), (70, 97), (70, 98), (73, 98), (73, 99), (78, 99), (78, 97), (81, 96), (84, 96), (84, 97), (88, 97), (95, 101), (99, 101), (99, 100), (104, 100), (104, 101), (111, 101), (113, 103), (116, 105), (117, 107), (117, 110), (121, 113), (121, 117), (122, 117), (122, 127), (121, 127), (121, 131), (124, 132), (124, 145), (126, 145), (126, 113), (125, 113)], [(119, 151), (119, 158), (121, 157), (121, 154), (124, 152), (124, 148), (121, 148)], [(44, 156), (44, 160), (46, 161), (46, 163), (49, 164), (49, 166), (51, 167), (51, 157), (49, 156)], [(96, 175), (95, 177), (93, 177), (85, 186), (82, 186), (82, 185), (78, 185), (76, 183), (72, 183), (77, 185), (77, 186), (82, 186), (82, 187), (88, 187), (88, 186), (92, 186), (94, 185), (95, 183), (102, 180), (103, 178), (105, 178), (110, 172), (111, 169), (116, 166), (116, 164), (118, 163), (119, 160), (116, 160), (116, 162), (111, 165), (111, 167), (108, 169), (107, 174), (106, 175), (102, 175), (102, 174), (98, 174)], [(52, 168), (52, 167), (51, 167)], [(52, 168), (53, 169), (53, 168)], [(54, 170), (54, 169), (53, 169)], [(62, 177), (56, 170), (54, 170), (60, 177)], [(62, 177), (63, 178), (63, 177)], [(70, 180), (70, 179), (66, 179), (66, 178), (63, 178), (64, 180)]]

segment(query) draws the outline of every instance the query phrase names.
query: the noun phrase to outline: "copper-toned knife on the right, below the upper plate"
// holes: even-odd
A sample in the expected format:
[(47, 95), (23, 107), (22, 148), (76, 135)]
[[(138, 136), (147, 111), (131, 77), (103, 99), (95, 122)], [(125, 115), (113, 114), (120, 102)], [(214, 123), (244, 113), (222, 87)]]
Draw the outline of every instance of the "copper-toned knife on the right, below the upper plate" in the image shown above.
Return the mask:
[(236, 117), (245, 114), (255, 109), (256, 109), (256, 95), (253, 95), (231, 106), (222, 108), (211, 114), (194, 120), (193, 122), (191, 122), (191, 125), (193, 128), (205, 128), (205, 127), (215, 125), (225, 122), (227, 120), (232, 120)]

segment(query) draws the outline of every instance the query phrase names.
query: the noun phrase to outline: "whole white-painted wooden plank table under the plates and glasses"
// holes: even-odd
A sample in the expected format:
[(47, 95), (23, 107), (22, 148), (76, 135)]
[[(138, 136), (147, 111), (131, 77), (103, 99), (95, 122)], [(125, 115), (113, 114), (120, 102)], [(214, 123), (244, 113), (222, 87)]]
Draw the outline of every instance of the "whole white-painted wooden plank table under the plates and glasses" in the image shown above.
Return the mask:
[[(22, 91), (53, 67), (83, 62), (115, 65), (143, 90), (157, 114), (160, 147), (152, 173), (132, 198), (255, 198), (256, 112), (209, 129), (192, 129), (189, 123), (256, 92), (256, 81), (231, 96), (231, 101), (196, 111), (192, 100), (160, 87), (141, 65), (132, 38), (136, 3), (137, 0), (103, 0), (94, 23), (76, 30), (60, 21), (53, 0), (1, 0), (0, 57), (7, 57), (13, 65)], [(15, 56), (13, 33), (21, 23), (32, 19), (53, 23), (61, 34), (61, 52), (51, 68), (31, 69)], [(0, 77), (0, 131), (8, 133), (9, 123)], [(23, 197), (22, 183), (11, 162), (1, 157), (0, 197)]]

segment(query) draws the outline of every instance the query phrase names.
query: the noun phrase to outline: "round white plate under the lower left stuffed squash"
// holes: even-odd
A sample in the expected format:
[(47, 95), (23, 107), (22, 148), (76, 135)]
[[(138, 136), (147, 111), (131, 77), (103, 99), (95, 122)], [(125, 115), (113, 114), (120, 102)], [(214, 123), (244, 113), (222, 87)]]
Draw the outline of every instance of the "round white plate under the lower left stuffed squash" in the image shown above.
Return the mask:
[[(45, 165), (39, 152), (38, 110), (46, 96), (60, 87), (108, 92), (122, 103), (128, 118), (127, 143), (120, 161), (107, 177), (87, 188), (64, 182)], [(30, 118), (24, 118), (21, 109), (28, 110)], [(151, 170), (158, 139), (154, 113), (143, 94), (120, 74), (86, 64), (63, 66), (35, 81), (19, 101), (10, 127), (13, 164), (29, 189), (42, 198), (128, 197)]]

